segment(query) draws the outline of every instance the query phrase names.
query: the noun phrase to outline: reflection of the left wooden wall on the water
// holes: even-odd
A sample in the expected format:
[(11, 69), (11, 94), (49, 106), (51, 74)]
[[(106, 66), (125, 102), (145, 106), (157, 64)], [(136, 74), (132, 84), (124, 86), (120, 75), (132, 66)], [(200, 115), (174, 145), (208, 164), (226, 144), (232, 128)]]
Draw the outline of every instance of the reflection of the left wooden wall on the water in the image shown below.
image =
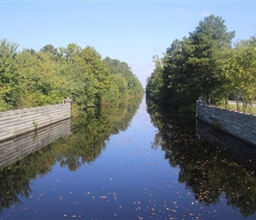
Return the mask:
[(71, 133), (71, 119), (67, 119), (1, 142), (0, 169)]

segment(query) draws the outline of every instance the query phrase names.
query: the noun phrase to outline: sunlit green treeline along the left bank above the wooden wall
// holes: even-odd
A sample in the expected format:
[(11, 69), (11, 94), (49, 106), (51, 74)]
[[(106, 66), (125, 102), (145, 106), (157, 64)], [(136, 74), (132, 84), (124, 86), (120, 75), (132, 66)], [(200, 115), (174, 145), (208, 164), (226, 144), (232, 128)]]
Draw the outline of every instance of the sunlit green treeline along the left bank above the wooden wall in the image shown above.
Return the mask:
[(143, 92), (126, 62), (102, 59), (92, 47), (18, 48), (0, 41), (0, 111), (62, 103), (65, 97), (73, 99), (73, 109), (84, 110)]

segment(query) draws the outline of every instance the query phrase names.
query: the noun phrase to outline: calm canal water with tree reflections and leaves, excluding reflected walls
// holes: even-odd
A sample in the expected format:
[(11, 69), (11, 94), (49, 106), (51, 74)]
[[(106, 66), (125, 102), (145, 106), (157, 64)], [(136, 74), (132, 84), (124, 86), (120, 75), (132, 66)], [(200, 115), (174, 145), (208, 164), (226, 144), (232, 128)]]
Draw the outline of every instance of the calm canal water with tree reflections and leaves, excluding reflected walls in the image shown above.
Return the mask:
[(139, 103), (89, 110), (72, 135), (0, 166), (0, 219), (256, 218), (254, 167)]

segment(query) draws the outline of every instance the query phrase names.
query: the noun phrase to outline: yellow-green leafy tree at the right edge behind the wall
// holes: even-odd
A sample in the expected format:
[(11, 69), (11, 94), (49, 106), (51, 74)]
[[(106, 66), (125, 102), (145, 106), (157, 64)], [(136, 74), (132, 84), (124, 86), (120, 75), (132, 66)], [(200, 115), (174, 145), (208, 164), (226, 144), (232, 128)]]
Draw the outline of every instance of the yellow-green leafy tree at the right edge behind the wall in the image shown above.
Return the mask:
[[(238, 100), (243, 100), (243, 106), (252, 105), (252, 100), (256, 94), (256, 39), (239, 40), (229, 53), (230, 58), (222, 64), (222, 69), (229, 85), (228, 92), (237, 99), (237, 110), (239, 110)], [(223, 61), (221, 61), (223, 62)], [(227, 86), (226, 86), (227, 87)], [(244, 109), (245, 111), (245, 109)]]

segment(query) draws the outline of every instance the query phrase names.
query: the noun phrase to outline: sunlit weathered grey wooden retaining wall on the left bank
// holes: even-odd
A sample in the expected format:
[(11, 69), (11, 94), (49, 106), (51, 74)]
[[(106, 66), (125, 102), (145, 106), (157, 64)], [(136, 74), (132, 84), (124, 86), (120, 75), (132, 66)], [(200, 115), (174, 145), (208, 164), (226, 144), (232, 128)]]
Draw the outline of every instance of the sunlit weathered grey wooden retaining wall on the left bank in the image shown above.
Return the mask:
[(0, 142), (71, 118), (71, 103), (0, 113)]

